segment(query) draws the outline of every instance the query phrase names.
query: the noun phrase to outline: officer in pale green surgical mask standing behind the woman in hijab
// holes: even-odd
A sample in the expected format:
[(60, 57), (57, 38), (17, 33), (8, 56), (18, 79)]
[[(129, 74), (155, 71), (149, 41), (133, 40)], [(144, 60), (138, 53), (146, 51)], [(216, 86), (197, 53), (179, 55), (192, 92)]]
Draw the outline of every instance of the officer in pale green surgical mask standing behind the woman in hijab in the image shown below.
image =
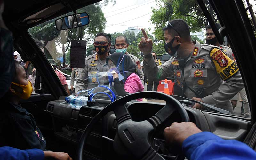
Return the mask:
[(117, 36), (115, 42), (116, 42), (116, 44), (115, 44), (116, 52), (123, 52), (124, 54), (127, 54), (128, 56), (131, 57), (132, 62), (136, 66), (136, 73), (140, 77), (140, 80), (141, 80), (141, 82), (144, 86), (144, 73), (143, 73), (142, 68), (140, 66), (140, 60), (139, 60), (138, 57), (136, 57), (136, 56), (127, 52), (127, 48), (129, 46), (127, 38), (125, 36)]

